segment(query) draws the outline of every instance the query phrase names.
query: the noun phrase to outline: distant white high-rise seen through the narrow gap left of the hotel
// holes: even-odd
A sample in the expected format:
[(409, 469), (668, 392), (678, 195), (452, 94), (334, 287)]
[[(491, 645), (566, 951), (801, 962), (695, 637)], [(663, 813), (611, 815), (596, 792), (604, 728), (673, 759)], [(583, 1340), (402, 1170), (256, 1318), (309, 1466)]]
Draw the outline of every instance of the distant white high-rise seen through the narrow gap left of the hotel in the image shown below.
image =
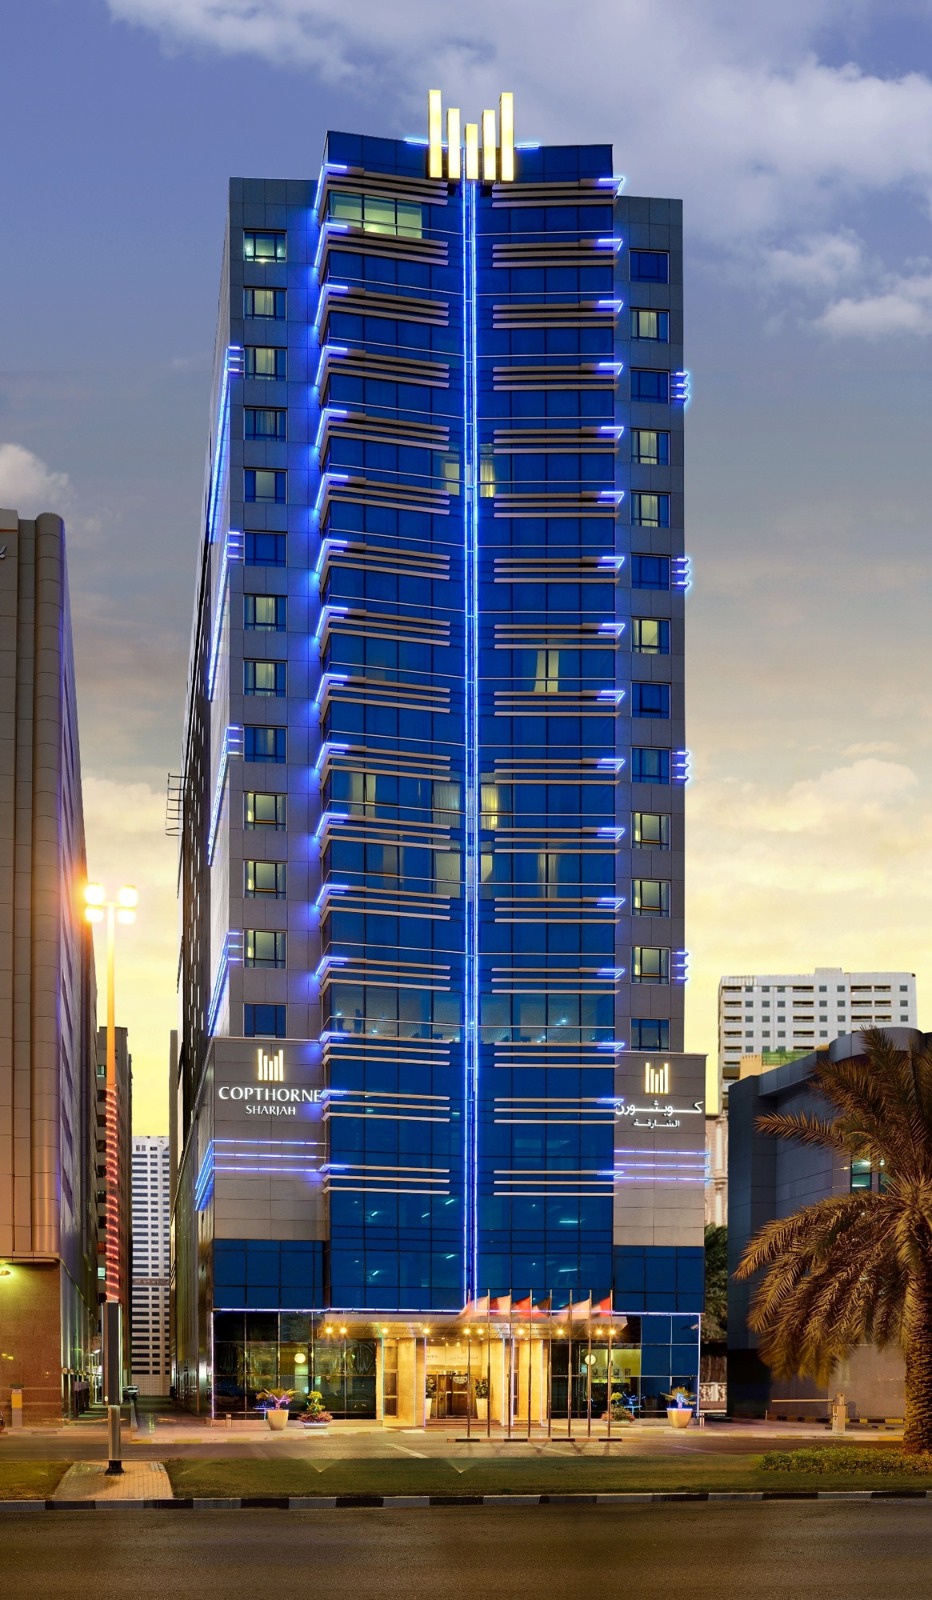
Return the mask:
[(133, 1139), (133, 1382), (141, 1395), (171, 1386), (168, 1290), (171, 1274), (168, 1139)]

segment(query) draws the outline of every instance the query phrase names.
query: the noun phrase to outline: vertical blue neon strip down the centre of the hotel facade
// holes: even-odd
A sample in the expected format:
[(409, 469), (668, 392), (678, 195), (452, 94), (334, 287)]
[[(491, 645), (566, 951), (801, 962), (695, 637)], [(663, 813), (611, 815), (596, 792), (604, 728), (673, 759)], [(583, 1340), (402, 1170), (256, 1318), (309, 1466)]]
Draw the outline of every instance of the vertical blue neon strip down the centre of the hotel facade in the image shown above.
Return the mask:
[(464, 1258), (463, 1302), (477, 1293), (479, 1259), (479, 350), (476, 184), (463, 181), (463, 510), (466, 576), (466, 974), (464, 974)]

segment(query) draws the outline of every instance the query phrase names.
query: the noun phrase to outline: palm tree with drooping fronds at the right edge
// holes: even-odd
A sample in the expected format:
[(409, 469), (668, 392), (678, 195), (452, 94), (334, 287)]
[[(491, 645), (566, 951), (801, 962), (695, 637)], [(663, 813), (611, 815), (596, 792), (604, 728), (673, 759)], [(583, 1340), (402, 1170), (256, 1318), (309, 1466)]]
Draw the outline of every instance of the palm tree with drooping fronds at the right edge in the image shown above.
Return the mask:
[(810, 1085), (825, 1112), (773, 1112), (757, 1128), (870, 1158), (879, 1192), (833, 1195), (769, 1222), (735, 1277), (764, 1270), (748, 1322), (778, 1378), (828, 1382), (855, 1344), (898, 1344), (903, 1448), (932, 1451), (932, 1051), (898, 1050), (882, 1029), (862, 1038), (857, 1059), (818, 1058)]

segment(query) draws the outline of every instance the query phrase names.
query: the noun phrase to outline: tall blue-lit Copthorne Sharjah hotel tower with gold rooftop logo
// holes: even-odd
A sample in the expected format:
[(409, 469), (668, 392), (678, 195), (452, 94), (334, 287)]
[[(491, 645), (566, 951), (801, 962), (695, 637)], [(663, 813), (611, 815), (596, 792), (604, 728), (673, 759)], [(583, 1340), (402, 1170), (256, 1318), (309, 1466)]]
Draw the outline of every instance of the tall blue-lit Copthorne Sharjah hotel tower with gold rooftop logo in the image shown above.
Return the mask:
[(514, 147), (509, 96), (231, 182), (178, 790), (192, 1405), (466, 1414), (479, 1362), (496, 1418), (508, 1373), (565, 1414), (609, 1346), (645, 1408), (695, 1382), (687, 397), (679, 202)]

